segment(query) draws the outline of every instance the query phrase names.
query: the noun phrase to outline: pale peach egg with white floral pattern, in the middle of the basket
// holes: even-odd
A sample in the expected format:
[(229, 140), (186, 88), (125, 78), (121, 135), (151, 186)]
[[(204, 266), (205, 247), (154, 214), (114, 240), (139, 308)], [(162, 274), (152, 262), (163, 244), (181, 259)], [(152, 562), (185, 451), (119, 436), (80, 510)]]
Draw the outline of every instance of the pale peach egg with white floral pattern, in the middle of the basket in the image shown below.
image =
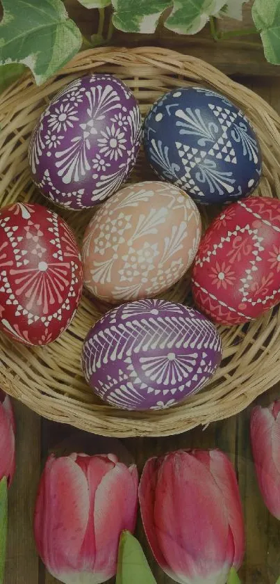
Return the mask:
[(129, 185), (100, 207), (85, 231), (85, 286), (111, 303), (154, 296), (185, 274), (200, 237), (199, 212), (181, 189)]

